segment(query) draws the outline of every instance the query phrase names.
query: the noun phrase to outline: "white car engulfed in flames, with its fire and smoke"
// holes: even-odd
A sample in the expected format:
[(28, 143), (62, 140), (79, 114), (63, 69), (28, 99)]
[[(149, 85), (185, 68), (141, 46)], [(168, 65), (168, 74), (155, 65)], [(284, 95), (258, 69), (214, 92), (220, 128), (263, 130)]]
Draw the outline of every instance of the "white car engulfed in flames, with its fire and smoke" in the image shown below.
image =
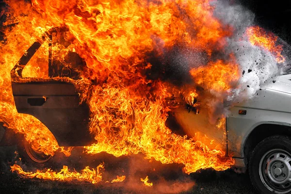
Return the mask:
[[(248, 167), (260, 192), (291, 191), (290, 77), (260, 79), (270, 79), (285, 61), (273, 34), (224, 21), (230, 12), (214, 13), (209, 1), (9, 4), (6, 23), (13, 27), (0, 48), (0, 138), (7, 139), (5, 129), (21, 134), (22, 161), (43, 163), (82, 146), (83, 154), (142, 153), (182, 164), (187, 174)], [(254, 59), (265, 56), (268, 64)], [(259, 71), (265, 65), (275, 70)], [(241, 75), (250, 66), (258, 81), (248, 93), (242, 85), (254, 81)], [(252, 99), (240, 98), (252, 92)], [(104, 163), (82, 173), (65, 165), (60, 173), (10, 167), (30, 178), (97, 183)]]

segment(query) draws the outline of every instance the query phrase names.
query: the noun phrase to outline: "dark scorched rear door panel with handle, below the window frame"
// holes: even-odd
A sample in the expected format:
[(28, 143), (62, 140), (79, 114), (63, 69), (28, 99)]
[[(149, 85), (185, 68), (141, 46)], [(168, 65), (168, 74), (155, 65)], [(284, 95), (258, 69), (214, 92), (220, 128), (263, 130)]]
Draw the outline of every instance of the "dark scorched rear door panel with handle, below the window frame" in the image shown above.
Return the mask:
[[(12, 89), (17, 112), (40, 120), (59, 146), (88, 146), (93, 142), (88, 131), (89, 108), (85, 103), (80, 104), (73, 84), (61, 81), (12, 83)], [(33, 100), (42, 98), (43, 103), (33, 104)]]

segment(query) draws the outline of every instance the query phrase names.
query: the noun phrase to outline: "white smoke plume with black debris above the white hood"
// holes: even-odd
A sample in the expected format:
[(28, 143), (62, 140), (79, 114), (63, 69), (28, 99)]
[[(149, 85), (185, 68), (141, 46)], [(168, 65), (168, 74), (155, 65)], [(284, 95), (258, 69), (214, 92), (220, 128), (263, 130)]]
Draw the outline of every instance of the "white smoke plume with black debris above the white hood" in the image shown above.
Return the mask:
[(253, 46), (248, 41), (245, 34), (246, 29), (257, 25), (254, 22), (255, 15), (251, 11), (242, 5), (230, 4), (223, 0), (217, 1), (215, 7), (215, 16), (233, 27), (234, 34), (228, 39), (226, 52), (234, 53), (243, 74), (238, 87), (233, 91), (233, 95), (226, 100), (237, 102), (249, 99), (256, 94), (262, 85), (273, 81), (280, 69), (275, 57), (270, 52)]

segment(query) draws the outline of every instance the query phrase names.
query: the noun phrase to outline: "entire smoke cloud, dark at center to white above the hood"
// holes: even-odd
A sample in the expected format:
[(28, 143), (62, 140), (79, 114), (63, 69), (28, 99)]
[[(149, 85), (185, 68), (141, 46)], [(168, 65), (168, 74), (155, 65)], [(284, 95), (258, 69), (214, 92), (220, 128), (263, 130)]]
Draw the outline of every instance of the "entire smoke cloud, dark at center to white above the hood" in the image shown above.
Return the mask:
[[(212, 1), (211, 5), (215, 8), (214, 16), (223, 23), (224, 28), (230, 27), (233, 32), (226, 37), (226, 44), (222, 49), (214, 50), (209, 57), (206, 52), (177, 44), (171, 50), (163, 50), (163, 57), (158, 60), (158, 63), (149, 62), (154, 64), (151, 75), (157, 75), (155, 71), (163, 72), (157, 77), (162, 77), (164, 81), (179, 86), (183, 84), (197, 86), (197, 82), (195, 80), (193, 82), (189, 73), (192, 68), (208, 66), (210, 61), (221, 59), (227, 62), (230, 56), (234, 56), (235, 63), (239, 65), (239, 80), (230, 83), (230, 92), (212, 90), (203, 86), (196, 87), (202, 101), (201, 107), (208, 109), (210, 123), (215, 123), (222, 115), (228, 115), (229, 108), (233, 104), (251, 99), (260, 87), (274, 81), (284, 65), (278, 65), (271, 52), (253, 46), (248, 41), (246, 29), (258, 25), (254, 13), (240, 4), (230, 3), (227, 0)], [(207, 76), (206, 72), (205, 76)]]

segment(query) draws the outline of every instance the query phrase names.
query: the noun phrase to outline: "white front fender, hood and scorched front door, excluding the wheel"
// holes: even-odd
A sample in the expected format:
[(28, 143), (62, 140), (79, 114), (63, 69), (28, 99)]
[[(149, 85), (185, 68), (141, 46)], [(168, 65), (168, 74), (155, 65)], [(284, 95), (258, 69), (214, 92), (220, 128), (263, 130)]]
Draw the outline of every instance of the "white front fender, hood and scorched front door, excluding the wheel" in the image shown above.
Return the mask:
[[(239, 110), (246, 114), (239, 114)], [(180, 108), (175, 117), (188, 135), (206, 134), (216, 142), (210, 148), (225, 151), (234, 158), (235, 166), (246, 167), (260, 141), (272, 135), (291, 134), (291, 75), (276, 77), (274, 82), (262, 86), (255, 97), (235, 104), (224, 129), (217, 129), (217, 123), (211, 124), (203, 110), (196, 115)]]

